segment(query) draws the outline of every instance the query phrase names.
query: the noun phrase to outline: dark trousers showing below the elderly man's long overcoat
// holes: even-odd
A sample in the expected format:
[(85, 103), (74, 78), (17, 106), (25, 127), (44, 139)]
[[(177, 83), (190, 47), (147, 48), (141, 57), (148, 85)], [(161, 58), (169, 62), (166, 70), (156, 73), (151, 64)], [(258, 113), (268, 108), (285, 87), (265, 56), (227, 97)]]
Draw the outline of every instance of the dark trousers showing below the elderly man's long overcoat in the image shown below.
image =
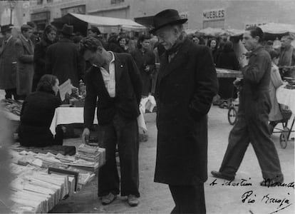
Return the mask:
[(175, 208), (171, 213), (206, 213), (204, 183), (169, 185)]

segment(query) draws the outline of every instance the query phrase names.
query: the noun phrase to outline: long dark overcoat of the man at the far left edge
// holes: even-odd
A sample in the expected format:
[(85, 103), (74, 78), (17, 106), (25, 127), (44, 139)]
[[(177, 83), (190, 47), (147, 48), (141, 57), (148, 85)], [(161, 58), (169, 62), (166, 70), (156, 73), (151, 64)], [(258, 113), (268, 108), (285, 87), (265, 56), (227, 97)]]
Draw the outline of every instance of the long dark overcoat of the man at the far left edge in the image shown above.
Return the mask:
[(0, 89), (16, 88), (16, 38), (2, 44), (0, 51)]

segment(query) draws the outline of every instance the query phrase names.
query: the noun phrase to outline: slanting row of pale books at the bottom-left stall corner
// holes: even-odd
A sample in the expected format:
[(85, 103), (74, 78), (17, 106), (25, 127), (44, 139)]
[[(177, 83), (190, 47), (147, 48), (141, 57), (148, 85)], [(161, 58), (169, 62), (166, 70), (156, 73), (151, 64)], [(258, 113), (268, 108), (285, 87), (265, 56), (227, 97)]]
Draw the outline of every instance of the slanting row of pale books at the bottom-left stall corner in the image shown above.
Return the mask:
[(71, 191), (67, 175), (33, 171), (11, 183), (12, 213), (48, 213)]

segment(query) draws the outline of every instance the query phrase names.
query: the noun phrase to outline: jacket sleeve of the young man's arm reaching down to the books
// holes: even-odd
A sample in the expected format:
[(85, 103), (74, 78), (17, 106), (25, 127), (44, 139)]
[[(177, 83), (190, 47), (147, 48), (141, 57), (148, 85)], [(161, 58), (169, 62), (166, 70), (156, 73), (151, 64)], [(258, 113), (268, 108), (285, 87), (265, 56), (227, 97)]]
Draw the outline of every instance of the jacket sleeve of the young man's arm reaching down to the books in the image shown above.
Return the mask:
[(93, 126), (97, 94), (93, 84), (92, 72), (86, 73), (86, 98), (84, 105), (84, 127), (91, 128)]

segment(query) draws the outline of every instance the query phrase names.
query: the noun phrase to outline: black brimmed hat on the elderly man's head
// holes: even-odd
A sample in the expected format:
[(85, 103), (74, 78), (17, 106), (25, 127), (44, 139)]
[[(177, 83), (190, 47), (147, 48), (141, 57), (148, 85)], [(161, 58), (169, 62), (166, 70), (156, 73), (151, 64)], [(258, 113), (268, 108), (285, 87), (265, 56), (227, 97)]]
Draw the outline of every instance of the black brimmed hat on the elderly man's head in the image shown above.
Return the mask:
[(180, 14), (175, 9), (166, 9), (160, 11), (160, 13), (155, 14), (153, 18), (153, 29), (150, 31), (151, 34), (154, 34), (155, 31), (161, 29), (164, 26), (171, 24), (184, 24), (187, 19), (181, 19)]

